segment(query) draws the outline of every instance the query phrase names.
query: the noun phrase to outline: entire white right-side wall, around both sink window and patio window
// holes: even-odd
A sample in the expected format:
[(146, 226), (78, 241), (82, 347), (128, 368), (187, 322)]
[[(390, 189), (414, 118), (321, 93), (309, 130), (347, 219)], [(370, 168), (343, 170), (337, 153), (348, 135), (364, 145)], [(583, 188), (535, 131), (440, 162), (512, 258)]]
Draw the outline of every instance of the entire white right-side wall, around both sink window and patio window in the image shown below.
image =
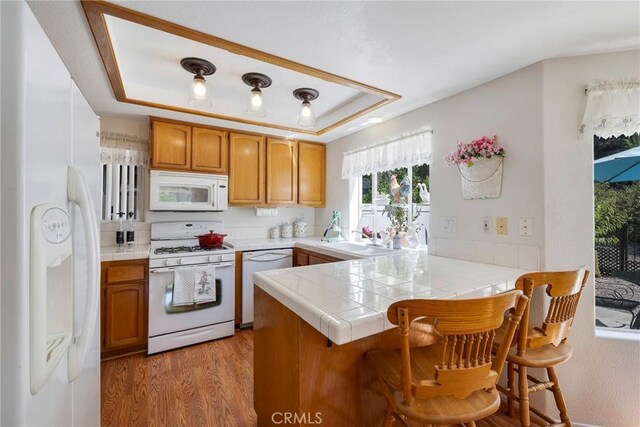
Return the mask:
[[(354, 185), (340, 178), (344, 151), (431, 126), (430, 252), (473, 259), (493, 251), (485, 261), (527, 269), (537, 261), (548, 270), (587, 264), (593, 271), (593, 144), (577, 134), (584, 88), (593, 80), (638, 76), (639, 68), (638, 51), (544, 61), (334, 141), (327, 146), (327, 208), (318, 210), (316, 224), (326, 224), (332, 209), (352, 226), (357, 220), (349, 202)], [(458, 171), (443, 158), (458, 139), (493, 134), (507, 151), (502, 196), (462, 200)], [(443, 232), (444, 216), (457, 217), (456, 233)], [(509, 235), (481, 234), (483, 216), (508, 217)], [(532, 237), (518, 236), (524, 217), (533, 220)], [(519, 258), (527, 255), (524, 262), (509, 259), (516, 248)], [(594, 321), (591, 280), (572, 330), (576, 351), (558, 370), (572, 420), (640, 425), (640, 345), (596, 338)], [(546, 406), (555, 416), (551, 400)]]

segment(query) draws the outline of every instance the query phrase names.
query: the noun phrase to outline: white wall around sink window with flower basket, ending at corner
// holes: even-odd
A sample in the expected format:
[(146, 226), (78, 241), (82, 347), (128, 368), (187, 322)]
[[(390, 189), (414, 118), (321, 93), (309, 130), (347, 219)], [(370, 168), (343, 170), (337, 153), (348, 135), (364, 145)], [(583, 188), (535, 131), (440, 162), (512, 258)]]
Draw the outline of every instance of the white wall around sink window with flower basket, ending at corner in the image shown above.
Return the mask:
[[(316, 224), (328, 223), (331, 210), (338, 209), (345, 223), (351, 228), (356, 225), (356, 209), (349, 204), (355, 183), (349, 186), (340, 178), (344, 151), (430, 126), (434, 147), (430, 251), (456, 258), (538, 268), (539, 251), (544, 242), (541, 103), (542, 65), (535, 64), (328, 144), (327, 188), (331, 191), (327, 193), (327, 208), (317, 212)], [(468, 142), (482, 135), (498, 135), (507, 152), (502, 196), (463, 200), (459, 172), (455, 167), (447, 167), (444, 157), (455, 149), (458, 140)], [(455, 233), (443, 231), (443, 217), (449, 216), (457, 218)], [(492, 217), (495, 221), (499, 216), (508, 218), (509, 234), (482, 234), (482, 218)], [(533, 236), (518, 235), (519, 218), (533, 220)]]

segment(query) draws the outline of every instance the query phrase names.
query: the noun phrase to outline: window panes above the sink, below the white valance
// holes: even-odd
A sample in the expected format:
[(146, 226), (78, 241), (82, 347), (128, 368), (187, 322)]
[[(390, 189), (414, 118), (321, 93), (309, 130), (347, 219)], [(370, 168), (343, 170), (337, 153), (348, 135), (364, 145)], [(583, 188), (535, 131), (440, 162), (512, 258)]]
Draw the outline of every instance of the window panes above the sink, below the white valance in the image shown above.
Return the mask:
[[(395, 176), (395, 184), (401, 187), (408, 186), (410, 189), (408, 196), (403, 196), (400, 193), (401, 202), (395, 205), (404, 209), (407, 224), (412, 221), (418, 224), (418, 240), (421, 244), (426, 245), (429, 222), (429, 165), (427, 163), (363, 175), (360, 179), (359, 227), (361, 229), (369, 227), (372, 230), (375, 228), (376, 231), (390, 227), (391, 221), (384, 214), (384, 206), (374, 205), (373, 199), (374, 195), (383, 194), (388, 196), (389, 201), (393, 200), (391, 196), (392, 176)], [(425, 185), (422, 196), (418, 184)]]

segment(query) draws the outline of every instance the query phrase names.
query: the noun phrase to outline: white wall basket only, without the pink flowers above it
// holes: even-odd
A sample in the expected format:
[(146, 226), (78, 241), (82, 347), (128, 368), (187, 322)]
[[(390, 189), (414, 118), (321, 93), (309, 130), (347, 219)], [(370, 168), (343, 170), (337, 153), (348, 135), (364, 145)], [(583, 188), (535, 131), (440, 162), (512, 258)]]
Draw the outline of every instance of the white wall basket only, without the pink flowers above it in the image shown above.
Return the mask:
[(497, 199), (502, 190), (502, 166), (504, 157), (477, 159), (473, 166), (458, 165), (462, 182), (462, 198)]

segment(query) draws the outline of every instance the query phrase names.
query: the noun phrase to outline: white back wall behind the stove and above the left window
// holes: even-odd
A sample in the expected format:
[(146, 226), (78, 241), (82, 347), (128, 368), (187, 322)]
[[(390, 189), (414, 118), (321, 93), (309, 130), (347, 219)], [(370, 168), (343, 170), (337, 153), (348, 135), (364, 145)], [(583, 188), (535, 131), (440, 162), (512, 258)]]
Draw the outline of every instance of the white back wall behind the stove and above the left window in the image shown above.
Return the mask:
[[(149, 139), (149, 117), (141, 116), (139, 120), (116, 117), (102, 117), (100, 130), (118, 132)], [(145, 196), (148, 199), (148, 194)], [(315, 209), (304, 207), (280, 207), (278, 215), (273, 217), (257, 217), (252, 207), (230, 207), (225, 212), (145, 212), (145, 222), (136, 225), (136, 242), (149, 242), (149, 224), (158, 221), (223, 221), (227, 239), (248, 239), (269, 237), (269, 228), (284, 222), (293, 222), (304, 216), (310, 224), (309, 235), (314, 235)], [(115, 245), (115, 223), (102, 223), (102, 245)]]

